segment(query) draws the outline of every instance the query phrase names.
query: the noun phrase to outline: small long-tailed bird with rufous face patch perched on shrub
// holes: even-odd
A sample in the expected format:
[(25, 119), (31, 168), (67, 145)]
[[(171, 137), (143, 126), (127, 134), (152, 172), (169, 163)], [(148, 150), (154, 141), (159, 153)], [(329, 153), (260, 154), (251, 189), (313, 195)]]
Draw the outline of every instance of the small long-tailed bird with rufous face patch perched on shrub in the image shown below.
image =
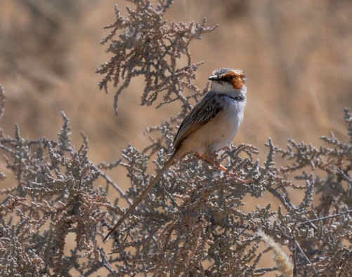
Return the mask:
[[(211, 82), (209, 91), (200, 102), (195, 104), (178, 128), (174, 137), (174, 154), (164, 164), (154, 180), (150, 181), (141, 196), (107, 233), (103, 241), (143, 201), (165, 170), (170, 168), (175, 161), (181, 161), (186, 154), (195, 153), (202, 160), (226, 171), (226, 168), (216, 161), (214, 153), (228, 147), (243, 121), (247, 104), (247, 75), (240, 69), (219, 68), (214, 70), (208, 80)], [(240, 178), (237, 180), (243, 183), (251, 181)]]

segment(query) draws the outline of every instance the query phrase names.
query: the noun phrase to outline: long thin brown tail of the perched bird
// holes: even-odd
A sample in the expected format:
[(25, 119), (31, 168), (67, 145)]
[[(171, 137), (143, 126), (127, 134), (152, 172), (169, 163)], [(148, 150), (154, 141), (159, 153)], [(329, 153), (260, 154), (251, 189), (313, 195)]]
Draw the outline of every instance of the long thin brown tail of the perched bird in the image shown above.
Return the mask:
[(164, 168), (162, 168), (162, 170), (160, 170), (160, 172), (157, 174), (155, 179), (152, 180), (150, 182), (150, 184), (148, 184), (148, 187), (145, 188), (145, 190), (142, 192), (141, 196), (139, 196), (139, 198), (136, 200), (136, 202), (134, 202), (129, 207), (129, 210), (127, 210), (127, 212), (124, 215), (122, 215), (122, 217), (119, 219), (117, 224), (115, 224), (115, 226), (112, 227), (112, 229), (109, 231), (109, 233), (107, 233), (107, 235), (105, 236), (103, 241), (106, 241), (106, 239), (112, 234), (112, 232), (115, 231), (122, 224), (122, 222), (124, 222), (124, 219), (129, 217), (131, 212), (133, 212), (133, 210), (138, 206), (138, 204), (143, 201), (145, 196), (147, 196), (150, 193), (150, 191), (152, 190), (154, 185), (157, 184), (157, 182), (159, 182), (159, 179), (160, 179), (160, 177), (162, 177), (164, 171), (167, 170), (174, 163), (174, 159), (175, 159), (175, 155), (173, 155), (173, 156), (171, 156), (171, 158), (169, 158), (169, 161), (167, 161), (167, 163), (165, 163)]

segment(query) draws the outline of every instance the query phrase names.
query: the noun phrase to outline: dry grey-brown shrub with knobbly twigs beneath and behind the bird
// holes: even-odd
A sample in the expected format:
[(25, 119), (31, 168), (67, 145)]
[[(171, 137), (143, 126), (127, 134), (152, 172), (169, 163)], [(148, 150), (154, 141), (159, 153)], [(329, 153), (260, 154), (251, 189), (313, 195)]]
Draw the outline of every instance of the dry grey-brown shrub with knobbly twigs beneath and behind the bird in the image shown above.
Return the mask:
[[(269, 139), (263, 163), (256, 160), (258, 151), (251, 145), (232, 145), (219, 153), (230, 170), (252, 179), (251, 184), (238, 184), (195, 156), (185, 157), (164, 173), (148, 199), (110, 237), (112, 251), (107, 250), (101, 238), (125, 210), (119, 199), (131, 203), (148, 185), (148, 161), (162, 170), (178, 123), (202, 95), (193, 83), (200, 63), (192, 62), (188, 46), (214, 30), (205, 20), (202, 24), (164, 20), (172, 1), (160, 0), (156, 7), (145, 0), (131, 3), (135, 8), (128, 9), (126, 18), (116, 7), (116, 22), (107, 27), (112, 32), (103, 43), (110, 43), (112, 58), (98, 69), (104, 74), (100, 88), (107, 90), (111, 82), (118, 86), (117, 111), (118, 95), (133, 77), (144, 76), (141, 104), (152, 104), (163, 93), (159, 105), (176, 102), (182, 112), (146, 130), (148, 147), (129, 146), (114, 163), (89, 161), (83, 134), (82, 146), (74, 147), (65, 113), (55, 141), (28, 140), (18, 126), (15, 135), (2, 134), (0, 148), (17, 181), (15, 187), (2, 191), (2, 274), (67, 276), (75, 269), (90, 276), (104, 268), (110, 276), (262, 276), (271, 271), (290, 274), (292, 263), (294, 276), (351, 276), (352, 113), (348, 109), (344, 109), (347, 142), (332, 134), (322, 137), (323, 146), (289, 140), (287, 149), (280, 149)], [(2, 113), (2, 88), (0, 92)], [(126, 168), (131, 180), (126, 194), (106, 173), (116, 167)], [(96, 185), (99, 179), (106, 187)], [(111, 189), (119, 192), (112, 203), (107, 198)], [(304, 191), (298, 204), (292, 201), (296, 191)], [(277, 210), (270, 203), (248, 213), (240, 210), (245, 196), (263, 198), (264, 193), (280, 202)], [(69, 234), (75, 235), (75, 244), (66, 251)], [(261, 240), (268, 249), (259, 247)], [(282, 258), (283, 245), (288, 259)], [(275, 253), (278, 265), (260, 267), (268, 251)]]

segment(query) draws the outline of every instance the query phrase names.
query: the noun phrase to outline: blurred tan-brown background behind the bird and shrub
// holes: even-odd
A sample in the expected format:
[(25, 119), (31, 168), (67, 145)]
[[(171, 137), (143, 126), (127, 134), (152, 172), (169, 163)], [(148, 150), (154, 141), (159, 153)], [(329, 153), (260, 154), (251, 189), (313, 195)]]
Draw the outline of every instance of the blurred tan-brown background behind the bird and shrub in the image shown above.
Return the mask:
[[(148, 145), (143, 130), (176, 114), (177, 107), (141, 107), (143, 80), (132, 81), (112, 107), (114, 89), (98, 90), (96, 68), (106, 62), (103, 27), (114, 21), (116, 1), (12, 0), (0, 9), (0, 83), (6, 111), (0, 119), (13, 135), (56, 139), (70, 118), (76, 147), (89, 137), (92, 161), (114, 161), (121, 149)], [(125, 1), (117, 1), (125, 13)], [(191, 45), (193, 62), (204, 61), (196, 83), (218, 67), (245, 69), (248, 104), (235, 142), (254, 144), (266, 156), (268, 137), (320, 144), (330, 131), (346, 140), (343, 107), (352, 107), (352, 1), (175, 1), (168, 20), (219, 24)], [(4, 160), (0, 170), (4, 171)], [(123, 171), (112, 178), (129, 187)], [(9, 187), (11, 175), (1, 183)], [(247, 206), (249, 209), (251, 205)]]

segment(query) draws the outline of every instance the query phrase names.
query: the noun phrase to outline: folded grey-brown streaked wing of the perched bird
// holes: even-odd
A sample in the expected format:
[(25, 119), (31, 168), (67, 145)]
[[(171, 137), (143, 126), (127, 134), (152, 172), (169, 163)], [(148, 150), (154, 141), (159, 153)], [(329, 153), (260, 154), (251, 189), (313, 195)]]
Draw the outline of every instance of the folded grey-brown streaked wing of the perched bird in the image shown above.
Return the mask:
[(208, 123), (211, 119), (223, 110), (223, 105), (216, 97), (216, 94), (209, 92), (204, 98), (198, 102), (193, 110), (182, 121), (180, 128), (174, 140), (175, 151), (181, 146), (183, 140), (188, 135), (195, 132), (204, 124)]

